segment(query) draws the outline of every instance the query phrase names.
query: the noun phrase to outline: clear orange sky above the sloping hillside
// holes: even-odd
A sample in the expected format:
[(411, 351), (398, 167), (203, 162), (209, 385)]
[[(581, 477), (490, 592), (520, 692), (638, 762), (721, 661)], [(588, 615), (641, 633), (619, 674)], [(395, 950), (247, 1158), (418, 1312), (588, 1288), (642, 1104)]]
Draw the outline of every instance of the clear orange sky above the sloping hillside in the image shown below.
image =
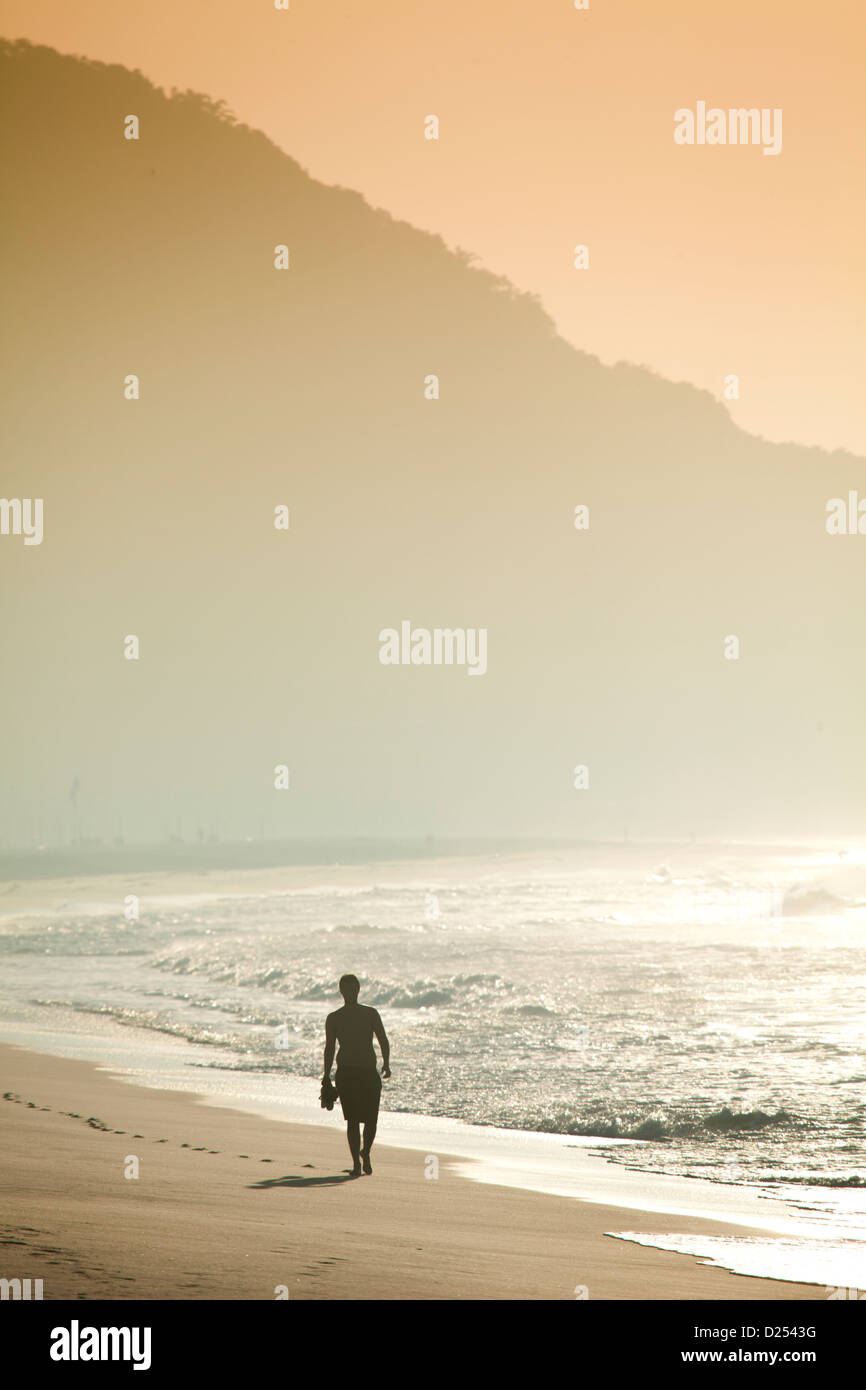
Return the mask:
[[(224, 99), (316, 178), (538, 293), (602, 360), (719, 396), (735, 373), (745, 428), (866, 456), (852, 0), (3, 0), (0, 17), (6, 38)], [(678, 147), (673, 113), (698, 100), (781, 107), (781, 154)]]

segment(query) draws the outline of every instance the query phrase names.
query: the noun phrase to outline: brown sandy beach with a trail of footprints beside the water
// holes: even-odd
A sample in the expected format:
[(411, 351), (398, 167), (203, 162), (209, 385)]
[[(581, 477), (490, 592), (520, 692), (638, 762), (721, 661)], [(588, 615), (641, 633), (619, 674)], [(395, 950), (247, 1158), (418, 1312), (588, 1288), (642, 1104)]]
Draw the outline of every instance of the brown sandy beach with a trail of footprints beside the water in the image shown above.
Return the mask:
[[(285, 1125), (1, 1047), (3, 1270), (82, 1300), (824, 1300), (613, 1240), (749, 1234), (468, 1182), (334, 1129)], [(138, 1177), (133, 1172), (138, 1159)]]

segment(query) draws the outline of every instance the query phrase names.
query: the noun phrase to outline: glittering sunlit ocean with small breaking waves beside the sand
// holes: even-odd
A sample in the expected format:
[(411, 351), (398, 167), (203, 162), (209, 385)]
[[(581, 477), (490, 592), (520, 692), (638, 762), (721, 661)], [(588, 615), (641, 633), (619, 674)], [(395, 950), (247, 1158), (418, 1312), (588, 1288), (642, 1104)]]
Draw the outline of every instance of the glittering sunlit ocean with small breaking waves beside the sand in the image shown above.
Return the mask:
[(149, 895), (131, 876), (138, 903), (72, 881), (50, 913), (7, 891), (1, 1036), (99, 1027), (111, 1054), (121, 1030), (158, 1034), (202, 1084), (285, 1080), (313, 1104), (352, 972), (391, 1038), (388, 1112), (592, 1138), (631, 1172), (862, 1225), (860, 847), (584, 845), (307, 869), (279, 891), (238, 878), (185, 894), (161, 876)]

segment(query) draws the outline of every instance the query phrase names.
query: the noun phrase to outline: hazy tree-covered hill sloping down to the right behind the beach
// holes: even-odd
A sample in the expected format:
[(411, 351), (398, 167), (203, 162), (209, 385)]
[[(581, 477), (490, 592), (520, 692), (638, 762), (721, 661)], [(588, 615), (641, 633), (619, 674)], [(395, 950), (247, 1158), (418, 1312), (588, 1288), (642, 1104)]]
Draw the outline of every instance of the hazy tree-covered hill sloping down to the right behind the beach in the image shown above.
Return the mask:
[[(601, 366), (209, 97), (0, 61), (7, 844), (862, 826), (862, 459)], [(405, 620), (487, 673), (384, 666)]]

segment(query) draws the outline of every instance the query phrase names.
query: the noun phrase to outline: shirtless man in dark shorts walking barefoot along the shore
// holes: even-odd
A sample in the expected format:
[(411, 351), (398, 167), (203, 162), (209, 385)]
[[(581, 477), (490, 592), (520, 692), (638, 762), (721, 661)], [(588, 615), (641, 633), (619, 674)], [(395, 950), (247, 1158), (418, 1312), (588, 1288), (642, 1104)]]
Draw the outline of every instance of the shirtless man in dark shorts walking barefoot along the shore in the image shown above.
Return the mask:
[[(339, 981), (339, 992), (345, 1004), (342, 1009), (336, 1009), (325, 1019), (325, 1079), (331, 1080), (334, 1048), (339, 1042), (334, 1084), (346, 1122), (353, 1177), (361, 1175), (361, 1159), (364, 1161), (363, 1172), (373, 1172), (370, 1150), (375, 1138), (382, 1094), (382, 1081), (375, 1069), (375, 1052), (373, 1051), (374, 1037), (382, 1051), (382, 1076), (391, 1076), (388, 1066), (391, 1044), (377, 1011), (357, 1002), (360, 988), (356, 976), (345, 974)], [(363, 1147), (361, 1125), (364, 1126)]]

